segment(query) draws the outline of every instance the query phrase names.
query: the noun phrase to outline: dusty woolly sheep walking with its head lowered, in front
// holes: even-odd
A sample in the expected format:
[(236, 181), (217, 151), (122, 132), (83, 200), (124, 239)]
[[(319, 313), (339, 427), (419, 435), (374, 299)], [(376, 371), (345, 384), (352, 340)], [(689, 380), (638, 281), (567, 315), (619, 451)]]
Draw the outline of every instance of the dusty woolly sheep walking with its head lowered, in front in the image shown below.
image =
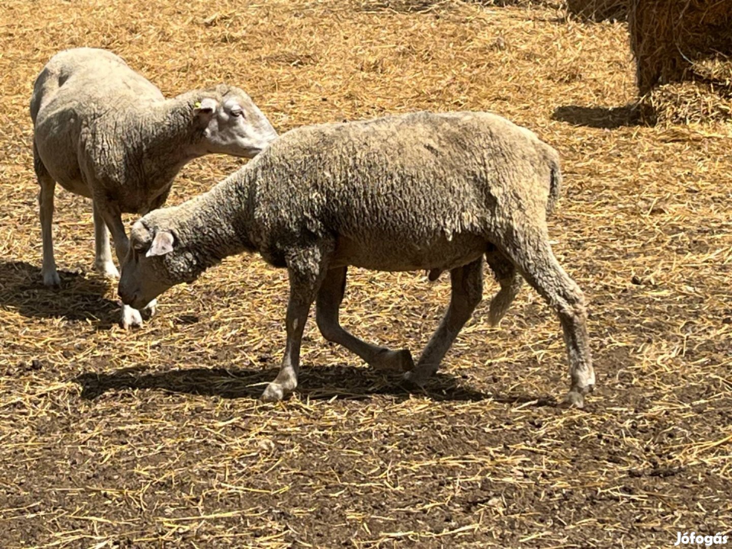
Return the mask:
[[(261, 395), (267, 402), (297, 386), (313, 302), (326, 340), (372, 367), (405, 370), (403, 378), (421, 386), (482, 299), (485, 257), (500, 285), (491, 324), (506, 313), (522, 276), (559, 315), (571, 378), (562, 406), (581, 408), (594, 387), (584, 296), (554, 257), (546, 224), (560, 187), (556, 150), (491, 113), (300, 127), (208, 193), (136, 221), (118, 292), (142, 307), (244, 251), (287, 268), (287, 343), (280, 372)], [(447, 313), (417, 365), (408, 349), (374, 346), (340, 326), (348, 266), (432, 276), (449, 270)]]

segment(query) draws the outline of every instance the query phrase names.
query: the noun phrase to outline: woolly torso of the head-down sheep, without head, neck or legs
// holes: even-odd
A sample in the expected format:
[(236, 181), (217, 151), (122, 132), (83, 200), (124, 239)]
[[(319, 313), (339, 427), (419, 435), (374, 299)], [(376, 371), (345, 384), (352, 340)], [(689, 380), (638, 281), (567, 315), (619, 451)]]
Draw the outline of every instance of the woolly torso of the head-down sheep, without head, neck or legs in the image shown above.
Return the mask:
[(479, 112), (300, 127), (240, 176), (254, 188), (259, 249), (325, 234), (364, 249), (428, 247), (527, 219), (543, 226), (561, 182), (553, 148)]

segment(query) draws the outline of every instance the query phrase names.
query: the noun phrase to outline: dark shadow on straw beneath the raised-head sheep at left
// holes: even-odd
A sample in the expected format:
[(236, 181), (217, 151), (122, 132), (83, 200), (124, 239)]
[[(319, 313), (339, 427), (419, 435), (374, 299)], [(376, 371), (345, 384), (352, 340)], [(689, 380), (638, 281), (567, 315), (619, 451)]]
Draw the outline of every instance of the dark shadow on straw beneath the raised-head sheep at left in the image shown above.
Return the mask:
[(59, 271), (61, 288), (47, 288), (41, 269), (25, 261), (0, 260), (0, 307), (36, 318), (98, 321), (100, 328), (116, 323), (119, 304), (104, 297), (109, 283), (80, 272)]

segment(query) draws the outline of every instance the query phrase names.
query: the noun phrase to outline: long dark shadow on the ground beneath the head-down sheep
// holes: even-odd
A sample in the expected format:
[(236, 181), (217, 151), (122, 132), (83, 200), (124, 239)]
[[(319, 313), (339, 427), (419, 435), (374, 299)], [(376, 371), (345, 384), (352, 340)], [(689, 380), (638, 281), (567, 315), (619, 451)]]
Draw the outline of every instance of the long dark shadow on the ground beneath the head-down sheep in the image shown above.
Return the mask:
[[(261, 395), (266, 384), (277, 376), (278, 368), (204, 368), (176, 369), (144, 373), (147, 368), (132, 367), (112, 373), (83, 373), (73, 381), (81, 386), (81, 397), (94, 400), (105, 392), (124, 389), (161, 389), (187, 395), (214, 396), (226, 399), (251, 398)], [(460, 377), (437, 373), (423, 388), (405, 384), (398, 373), (386, 373), (369, 367), (337, 365), (303, 368), (296, 391), (310, 400), (367, 400), (374, 395), (388, 395), (406, 400), (422, 395), (434, 401), (495, 400), (496, 402), (532, 406), (556, 406), (552, 397), (529, 395), (491, 395), (475, 391), (460, 383)]]

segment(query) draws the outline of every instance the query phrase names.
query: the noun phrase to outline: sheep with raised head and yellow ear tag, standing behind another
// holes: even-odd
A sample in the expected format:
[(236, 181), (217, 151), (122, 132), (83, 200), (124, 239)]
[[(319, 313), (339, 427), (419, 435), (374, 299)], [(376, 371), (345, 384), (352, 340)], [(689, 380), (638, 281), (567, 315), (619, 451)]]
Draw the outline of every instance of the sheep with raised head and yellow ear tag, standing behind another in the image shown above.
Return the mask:
[[(91, 198), (94, 268), (119, 277), (128, 240), (121, 214), (145, 214), (165, 203), (173, 178), (209, 153), (254, 157), (277, 133), (241, 89), (220, 84), (172, 99), (109, 51), (75, 48), (48, 61), (34, 83), (34, 169), (43, 243), (43, 283), (59, 286), (53, 255), (56, 183)], [(106, 226), (105, 226), (106, 225)], [(154, 313), (155, 302), (146, 313)], [(139, 326), (140, 311), (122, 305), (122, 326)]]

